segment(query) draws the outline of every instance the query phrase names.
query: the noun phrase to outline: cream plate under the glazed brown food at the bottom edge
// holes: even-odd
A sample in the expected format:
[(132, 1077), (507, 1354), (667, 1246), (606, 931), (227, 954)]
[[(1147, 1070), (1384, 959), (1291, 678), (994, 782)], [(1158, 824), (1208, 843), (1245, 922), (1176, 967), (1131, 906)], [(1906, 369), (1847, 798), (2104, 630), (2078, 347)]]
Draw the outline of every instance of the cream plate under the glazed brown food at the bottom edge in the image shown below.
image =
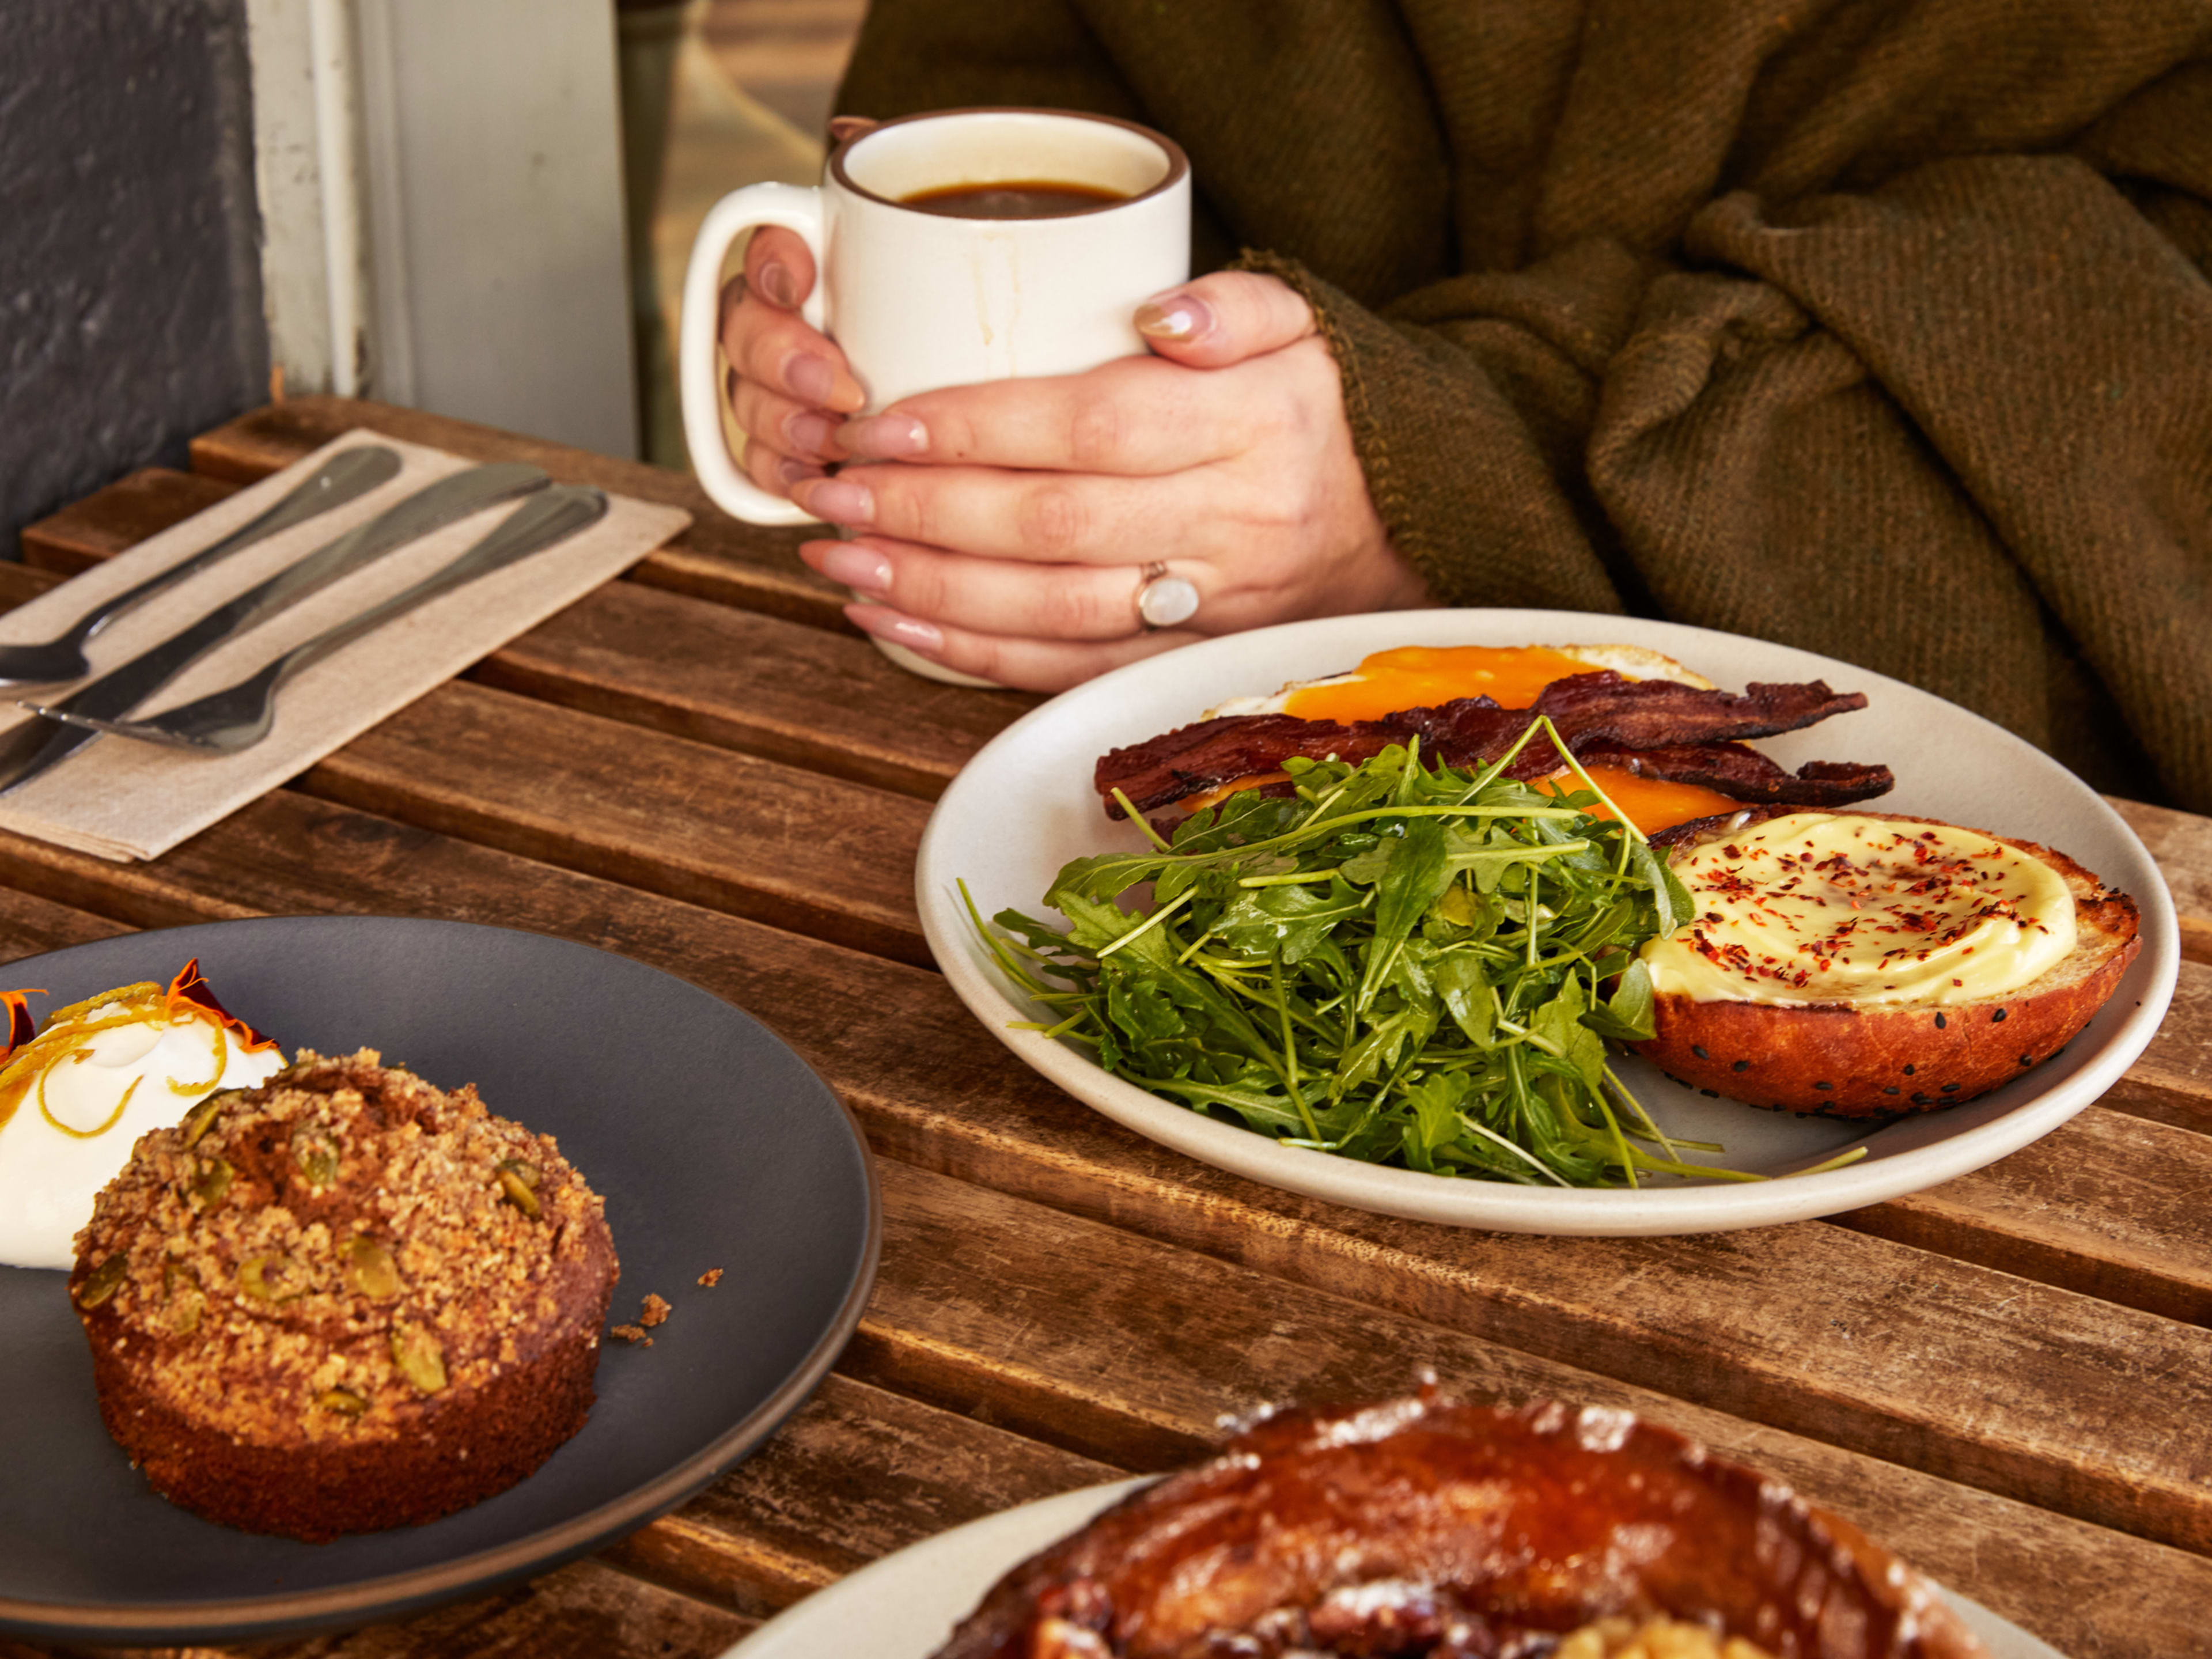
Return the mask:
[[(929, 1659), (1009, 1568), (1141, 1484), (1117, 1480), (1060, 1493), (885, 1555), (776, 1615), (723, 1659)], [(1991, 1659), (2064, 1659), (1980, 1601), (1951, 1590), (1942, 1597), (1982, 1637)]]

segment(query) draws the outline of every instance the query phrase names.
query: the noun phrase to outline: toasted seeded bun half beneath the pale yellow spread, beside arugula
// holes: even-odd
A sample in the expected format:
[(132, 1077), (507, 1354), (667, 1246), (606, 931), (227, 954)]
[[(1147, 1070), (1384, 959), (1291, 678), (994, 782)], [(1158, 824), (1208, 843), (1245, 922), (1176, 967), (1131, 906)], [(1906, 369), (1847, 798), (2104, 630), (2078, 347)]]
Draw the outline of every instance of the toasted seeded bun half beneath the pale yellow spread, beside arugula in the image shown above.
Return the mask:
[[(1933, 823), (1896, 812), (1858, 816)], [(1692, 1088), (1823, 1117), (1905, 1117), (1958, 1106), (2051, 1060), (2119, 989), (2143, 947), (2141, 918), (2132, 898), (2066, 854), (1991, 830), (1975, 834), (2039, 858), (2073, 891), (2075, 949), (2042, 978), (2002, 998), (1940, 1009), (1851, 1002), (1783, 1009), (1666, 993), (1657, 1000), (1652, 1040), (1632, 1048)], [(1701, 843), (1686, 843), (1674, 856), (1694, 845)]]

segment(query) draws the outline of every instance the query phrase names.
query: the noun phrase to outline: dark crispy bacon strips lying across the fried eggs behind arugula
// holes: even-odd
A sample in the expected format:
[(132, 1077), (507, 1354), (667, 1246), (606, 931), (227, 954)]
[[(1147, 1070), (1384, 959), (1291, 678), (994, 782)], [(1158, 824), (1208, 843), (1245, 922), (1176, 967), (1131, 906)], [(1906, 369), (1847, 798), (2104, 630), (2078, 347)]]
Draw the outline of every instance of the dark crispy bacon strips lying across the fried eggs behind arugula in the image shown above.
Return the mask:
[[(1752, 684), (1743, 695), (1677, 686), (1668, 679), (1624, 679), (1610, 670), (1555, 679), (1533, 708), (1498, 708), (1489, 697), (1460, 697), (1436, 708), (1409, 708), (1378, 721), (1303, 721), (1294, 714), (1230, 714), (1164, 732), (1146, 743), (1110, 750), (1093, 772), (1106, 816), (1119, 818), (1113, 790), (1139, 812), (1217, 790), (1237, 779), (1279, 772), (1283, 761), (1367, 761), (1391, 743), (1420, 737), (1422, 754), (1447, 765), (1473, 768), (1504, 754), (1548, 714), (1586, 763), (1639, 761), (1646, 776), (1703, 783), (1739, 801), (1843, 805), (1882, 794), (1889, 768), (1814, 761), (1783, 772), (1736, 739), (1772, 737), (1812, 726), (1829, 714), (1865, 708), (1860, 692), (1836, 692), (1825, 681), (1803, 686)], [(1537, 734), (1506, 768), (1506, 776), (1540, 779), (1566, 761)]]

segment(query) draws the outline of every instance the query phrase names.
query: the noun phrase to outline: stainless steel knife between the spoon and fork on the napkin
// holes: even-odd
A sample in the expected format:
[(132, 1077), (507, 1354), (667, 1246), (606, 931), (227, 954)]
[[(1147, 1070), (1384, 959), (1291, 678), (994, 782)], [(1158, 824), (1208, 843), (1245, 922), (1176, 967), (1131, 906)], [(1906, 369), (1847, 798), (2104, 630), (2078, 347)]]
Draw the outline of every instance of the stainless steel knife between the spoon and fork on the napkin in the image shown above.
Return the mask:
[[(325, 542), (314, 553), (294, 560), (276, 575), (248, 588), (228, 604), (217, 606), (192, 626), (170, 635), (161, 644), (139, 653), (119, 668), (91, 681), (58, 708), (71, 708), (97, 719), (128, 714), (153, 692), (190, 664), (206, 657), (217, 646), (234, 639), (248, 628), (257, 628), (281, 611), (290, 611), (310, 593), (327, 588), (343, 575), (358, 571), (385, 553), (414, 542), (420, 535), (482, 511), (493, 502), (526, 495), (544, 489), (551, 480), (538, 467), (520, 462), (495, 462), (471, 467), (465, 473), (440, 478), (427, 489), (418, 489), (407, 500), (378, 513), (345, 535)], [(0, 794), (20, 790), (51, 765), (66, 761), (86, 743), (100, 739), (97, 730), (64, 726), (55, 719), (24, 721), (9, 732), (0, 748)]]

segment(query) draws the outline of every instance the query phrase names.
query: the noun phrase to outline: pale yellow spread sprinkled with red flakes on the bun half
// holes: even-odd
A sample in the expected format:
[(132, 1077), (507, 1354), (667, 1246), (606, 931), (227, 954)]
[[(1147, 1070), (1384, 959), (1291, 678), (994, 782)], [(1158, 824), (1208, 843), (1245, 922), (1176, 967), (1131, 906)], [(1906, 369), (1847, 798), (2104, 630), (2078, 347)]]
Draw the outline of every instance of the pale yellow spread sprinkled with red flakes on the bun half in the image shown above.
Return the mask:
[(1697, 1002), (1940, 1006), (2042, 978), (2075, 947), (2066, 878), (1973, 830), (1794, 812), (1674, 865), (1697, 920), (1644, 947)]

